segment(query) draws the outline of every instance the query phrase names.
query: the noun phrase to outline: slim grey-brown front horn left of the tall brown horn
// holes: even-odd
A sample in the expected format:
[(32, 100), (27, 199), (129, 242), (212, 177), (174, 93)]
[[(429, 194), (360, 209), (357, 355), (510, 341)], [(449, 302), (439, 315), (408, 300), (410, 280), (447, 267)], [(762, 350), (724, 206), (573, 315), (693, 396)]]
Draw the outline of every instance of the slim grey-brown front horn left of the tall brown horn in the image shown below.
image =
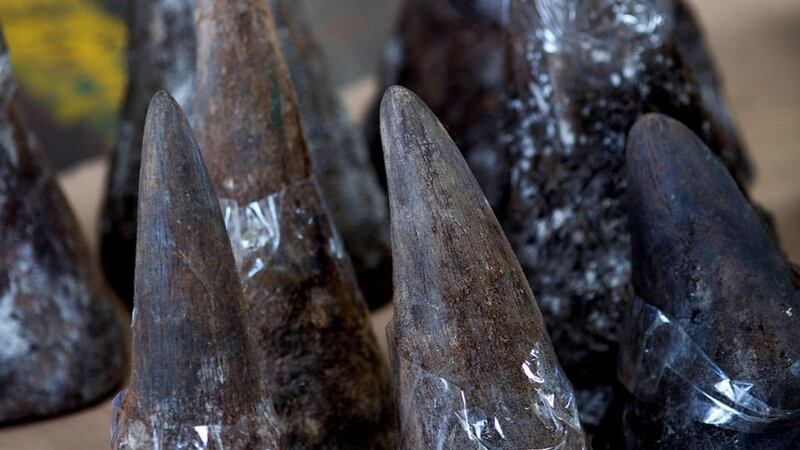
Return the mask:
[[(166, 93), (144, 131), (133, 364), (115, 449), (274, 448), (236, 265), (189, 122)], [(205, 447), (203, 447), (205, 448)]]

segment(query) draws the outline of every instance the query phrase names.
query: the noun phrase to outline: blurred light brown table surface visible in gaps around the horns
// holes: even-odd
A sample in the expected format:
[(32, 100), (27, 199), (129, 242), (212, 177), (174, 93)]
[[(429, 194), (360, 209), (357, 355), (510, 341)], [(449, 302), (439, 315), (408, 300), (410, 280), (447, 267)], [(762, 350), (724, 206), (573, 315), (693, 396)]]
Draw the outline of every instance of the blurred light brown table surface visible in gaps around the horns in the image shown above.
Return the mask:
[[(797, 0), (694, 0), (721, 67), (729, 99), (757, 170), (756, 201), (776, 219), (782, 245), (800, 261), (800, 2)], [(368, 80), (345, 88), (353, 117), (363, 116), (374, 93)], [(104, 161), (83, 164), (62, 184), (91, 245), (96, 245), (97, 205)], [(372, 322), (385, 348), (391, 308)], [(46, 421), (0, 429), (0, 450), (108, 448), (110, 401)]]

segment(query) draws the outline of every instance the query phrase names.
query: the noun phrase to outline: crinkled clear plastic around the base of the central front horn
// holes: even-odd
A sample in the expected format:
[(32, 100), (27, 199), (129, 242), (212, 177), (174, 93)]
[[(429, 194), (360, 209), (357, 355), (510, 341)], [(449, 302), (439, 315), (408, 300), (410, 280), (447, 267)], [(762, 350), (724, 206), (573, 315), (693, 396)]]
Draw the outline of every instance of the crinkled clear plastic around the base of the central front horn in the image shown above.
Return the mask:
[[(425, 442), (431, 449), (448, 450), (455, 448), (454, 444), (467, 441), (474, 442), (474, 448), (481, 450), (588, 448), (569, 381), (560, 367), (549, 365), (541, 357), (540, 343), (534, 345), (528, 358), (520, 361), (520, 376), (530, 383), (527, 401), (520, 402), (496, 385), (482, 386), (484, 392), (492, 392), (491, 399), (476, 401), (455, 383), (401, 356), (394, 339), (394, 322), (386, 327), (386, 333), (391, 365), (397, 377), (398, 448), (411, 448), (409, 443), (413, 446)], [(428, 393), (433, 392), (426, 399), (432, 407), (425, 412), (406, 401), (413, 396), (412, 392), (401, 392), (406, 387), (416, 390), (423, 385)], [(520, 403), (525, 404), (524, 411), (514, 406)], [(431, 414), (432, 411), (435, 413)], [(535, 431), (541, 429), (553, 436), (545, 446), (541, 445), (541, 440), (547, 438)]]

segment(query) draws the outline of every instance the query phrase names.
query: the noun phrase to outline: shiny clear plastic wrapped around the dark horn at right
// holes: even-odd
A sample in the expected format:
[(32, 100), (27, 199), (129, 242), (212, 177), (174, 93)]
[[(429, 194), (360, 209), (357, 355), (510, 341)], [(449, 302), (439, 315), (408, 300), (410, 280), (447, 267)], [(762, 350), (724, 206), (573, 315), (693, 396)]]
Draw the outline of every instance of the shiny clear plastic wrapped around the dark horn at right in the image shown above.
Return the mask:
[[(775, 386), (800, 386), (800, 361), (780, 379), (736, 380), (726, 374), (686, 331), (660, 309), (636, 298), (630, 326), (622, 336), (620, 381), (637, 398), (652, 399), (659, 391), (682, 393), (665, 408), (675, 429), (692, 423), (762, 433), (800, 425), (800, 410), (770, 406), (761, 395)], [(666, 377), (665, 375), (672, 376)], [(679, 380), (682, 386), (669, 386)], [(680, 395), (680, 394), (677, 394)]]

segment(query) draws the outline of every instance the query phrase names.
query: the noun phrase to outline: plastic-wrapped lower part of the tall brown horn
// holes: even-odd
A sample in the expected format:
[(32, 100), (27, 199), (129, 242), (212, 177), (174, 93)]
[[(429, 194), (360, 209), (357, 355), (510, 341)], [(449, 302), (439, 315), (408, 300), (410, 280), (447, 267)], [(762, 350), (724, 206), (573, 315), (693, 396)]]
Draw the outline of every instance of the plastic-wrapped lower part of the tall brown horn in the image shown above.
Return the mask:
[(316, 178), (220, 205), (284, 442), (392, 448), (389, 376)]

